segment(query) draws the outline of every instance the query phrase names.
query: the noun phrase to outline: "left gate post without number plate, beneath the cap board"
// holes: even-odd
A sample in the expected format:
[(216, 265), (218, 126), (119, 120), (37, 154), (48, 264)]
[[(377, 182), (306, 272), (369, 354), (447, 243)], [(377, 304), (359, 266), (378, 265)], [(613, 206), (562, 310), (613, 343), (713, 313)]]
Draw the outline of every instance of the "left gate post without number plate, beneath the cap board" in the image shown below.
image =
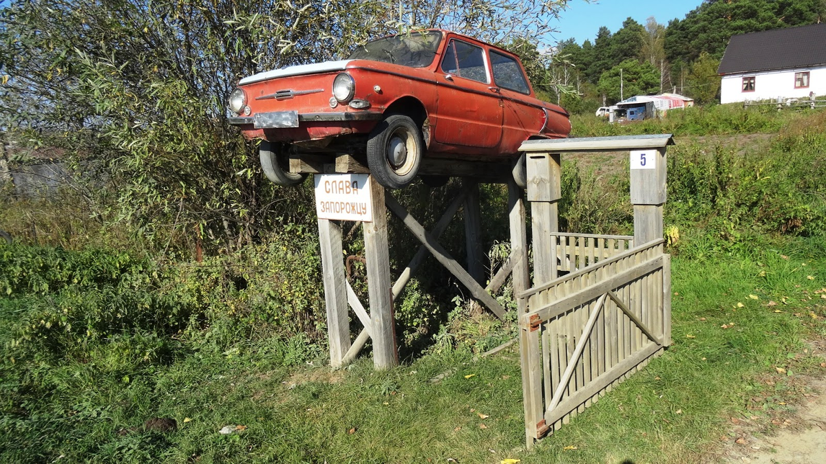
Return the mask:
[(556, 257), (551, 233), (559, 231), (558, 202), (562, 198), (560, 155), (532, 153), (527, 158), (528, 201), (534, 244), (534, 285), (552, 279)]

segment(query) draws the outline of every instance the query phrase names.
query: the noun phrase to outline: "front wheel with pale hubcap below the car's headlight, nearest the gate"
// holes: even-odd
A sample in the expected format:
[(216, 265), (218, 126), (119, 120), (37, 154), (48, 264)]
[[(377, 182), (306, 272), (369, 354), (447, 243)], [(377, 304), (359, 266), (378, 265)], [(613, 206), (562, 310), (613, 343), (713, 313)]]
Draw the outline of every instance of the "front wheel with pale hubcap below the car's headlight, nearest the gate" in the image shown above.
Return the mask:
[(413, 182), (424, 155), (421, 130), (404, 115), (387, 116), (373, 129), (367, 142), (370, 173), (387, 188), (404, 188)]

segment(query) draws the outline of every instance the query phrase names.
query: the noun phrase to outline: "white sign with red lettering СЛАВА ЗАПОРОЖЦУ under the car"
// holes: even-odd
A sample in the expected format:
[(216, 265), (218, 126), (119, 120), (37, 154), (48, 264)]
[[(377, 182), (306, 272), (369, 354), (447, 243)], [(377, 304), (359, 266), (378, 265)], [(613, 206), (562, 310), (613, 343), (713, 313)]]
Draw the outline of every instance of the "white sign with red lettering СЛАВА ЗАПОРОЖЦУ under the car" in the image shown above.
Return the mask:
[(369, 174), (316, 174), (319, 219), (373, 222)]

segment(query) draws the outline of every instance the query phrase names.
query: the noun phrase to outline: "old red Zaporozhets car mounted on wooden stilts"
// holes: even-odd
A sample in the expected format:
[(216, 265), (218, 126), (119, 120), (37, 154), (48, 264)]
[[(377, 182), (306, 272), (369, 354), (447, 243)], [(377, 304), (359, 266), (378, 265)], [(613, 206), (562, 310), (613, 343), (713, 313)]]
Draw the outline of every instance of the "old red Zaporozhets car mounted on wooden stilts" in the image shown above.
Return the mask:
[(567, 111), (534, 97), (515, 54), (441, 30), (241, 79), (230, 110), (245, 138), (263, 140), (264, 172), (281, 185), (303, 179), (289, 172), (290, 151), (351, 153), (384, 187), (401, 188), (425, 156), (516, 159), (525, 140), (571, 130)]

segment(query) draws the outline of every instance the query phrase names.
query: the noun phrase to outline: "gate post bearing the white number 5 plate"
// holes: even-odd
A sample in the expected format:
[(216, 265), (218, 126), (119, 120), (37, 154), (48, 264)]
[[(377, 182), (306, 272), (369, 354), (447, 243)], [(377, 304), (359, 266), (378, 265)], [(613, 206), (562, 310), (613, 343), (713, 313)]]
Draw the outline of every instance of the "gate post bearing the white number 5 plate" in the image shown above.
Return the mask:
[(634, 246), (662, 239), (662, 205), (666, 202), (666, 149), (632, 150), (631, 203)]

